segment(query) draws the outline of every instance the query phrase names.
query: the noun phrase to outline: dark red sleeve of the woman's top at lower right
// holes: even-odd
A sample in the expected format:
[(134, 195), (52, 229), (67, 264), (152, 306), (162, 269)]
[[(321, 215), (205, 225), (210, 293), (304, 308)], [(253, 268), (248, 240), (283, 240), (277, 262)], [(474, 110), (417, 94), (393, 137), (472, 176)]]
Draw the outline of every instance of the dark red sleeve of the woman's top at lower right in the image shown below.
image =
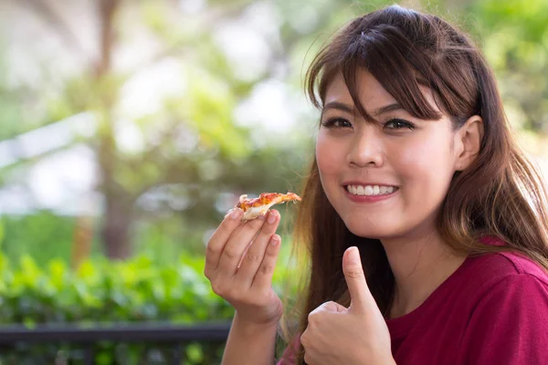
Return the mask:
[(458, 363), (548, 364), (548, 286), (529, 274), (507, 276), (470, 315)]

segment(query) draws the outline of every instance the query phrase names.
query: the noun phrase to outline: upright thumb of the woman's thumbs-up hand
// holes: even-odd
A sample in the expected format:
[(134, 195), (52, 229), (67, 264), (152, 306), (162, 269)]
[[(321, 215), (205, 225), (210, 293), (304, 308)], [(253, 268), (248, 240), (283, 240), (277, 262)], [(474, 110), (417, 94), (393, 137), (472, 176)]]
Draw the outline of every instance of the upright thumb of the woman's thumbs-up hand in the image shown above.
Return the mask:
[(365, 281), (364, 267), (357, 247), (348, 248), (342, 256), (342, 271), (350, 293), (351, 312), (363, 312), (376, 303)]

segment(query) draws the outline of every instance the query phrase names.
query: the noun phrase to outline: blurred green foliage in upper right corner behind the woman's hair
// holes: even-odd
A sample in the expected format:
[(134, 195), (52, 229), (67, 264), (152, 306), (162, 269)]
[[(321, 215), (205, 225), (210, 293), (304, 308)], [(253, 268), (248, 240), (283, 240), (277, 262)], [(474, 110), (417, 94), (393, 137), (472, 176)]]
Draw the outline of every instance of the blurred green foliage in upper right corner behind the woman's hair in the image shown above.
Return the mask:
[[(518, 127), (548, 136), (548, 1), (474, 2), (476, 34)], [(519, 120), (517, 120), (519, 118)]]

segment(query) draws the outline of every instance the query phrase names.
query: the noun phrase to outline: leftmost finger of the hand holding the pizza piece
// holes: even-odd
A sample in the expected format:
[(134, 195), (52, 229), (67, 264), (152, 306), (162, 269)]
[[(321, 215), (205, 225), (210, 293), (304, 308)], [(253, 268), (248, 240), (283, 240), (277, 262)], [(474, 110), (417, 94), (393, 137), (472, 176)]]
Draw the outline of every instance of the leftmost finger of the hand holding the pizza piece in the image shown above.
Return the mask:
[(216, 269), (219, 259), (227, 244), (228, 237), (237, 229), (241, 223), (244, 212), (241, 209), (231, 209), (225, 215), (223, 222), (219, 224), (216, 231), (211, 235), (205, 248), (205, 272)]

